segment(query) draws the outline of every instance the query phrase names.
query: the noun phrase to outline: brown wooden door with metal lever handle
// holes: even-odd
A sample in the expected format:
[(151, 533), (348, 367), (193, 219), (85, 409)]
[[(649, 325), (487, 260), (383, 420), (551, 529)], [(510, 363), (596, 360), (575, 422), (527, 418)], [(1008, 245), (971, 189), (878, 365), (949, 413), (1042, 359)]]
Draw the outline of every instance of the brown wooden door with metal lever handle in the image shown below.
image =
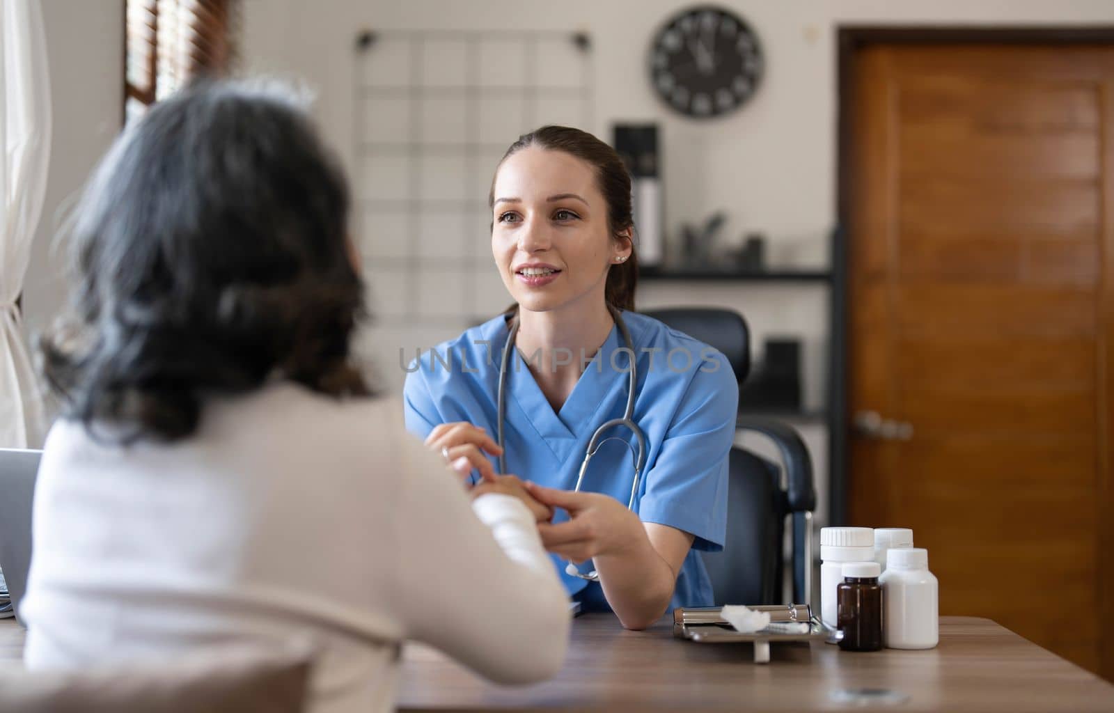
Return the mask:
[(871, 45), (850, 79), (850, 524), (912, 527), (941, 614), (1114, 677), (1114, 49)]

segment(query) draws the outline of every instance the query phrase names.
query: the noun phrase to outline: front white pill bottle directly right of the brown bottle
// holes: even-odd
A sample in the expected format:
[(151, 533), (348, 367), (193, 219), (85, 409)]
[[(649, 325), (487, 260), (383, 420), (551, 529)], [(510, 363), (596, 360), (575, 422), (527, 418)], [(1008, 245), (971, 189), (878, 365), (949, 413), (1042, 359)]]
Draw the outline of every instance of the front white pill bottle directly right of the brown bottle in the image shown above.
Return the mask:
[(932, 648), (940, 641), (939, 583), (928, 550), (891, 548), (882, 585), (882, 641), (887, 648)]

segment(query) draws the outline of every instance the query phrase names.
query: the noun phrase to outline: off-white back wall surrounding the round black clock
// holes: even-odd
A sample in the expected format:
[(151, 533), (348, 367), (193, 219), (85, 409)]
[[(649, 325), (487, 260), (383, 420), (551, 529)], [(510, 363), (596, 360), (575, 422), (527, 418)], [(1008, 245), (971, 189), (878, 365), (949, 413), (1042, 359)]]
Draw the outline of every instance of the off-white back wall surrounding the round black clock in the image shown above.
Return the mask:
[[(671, 0), (244, 0), (248, 70), (300, 77), (317, 92), (317, 118), (351, 162), (352, 86), (359, 29), (585, 30), (595, 55), (590, 127), (610, 137), (618, 120), (662, 129), (667, 236), (682, 222), (726, 211), (734, 236), (762, 231), (769, 262), (820, 266), (836, 219), (836, 30), (841, 25), (1114, 23), (1112, 0), (720, 0), (755, 29), (763, 84), (742, 110), (711, 121), (680, 118), (653, 95), (647, 47), (664, 20), (692, 4)], [(514, 137), (507, 137), (508, 143)], [(482, 192), (486, 186), (477, 186)], [(491, 275), (495, 280), (495, 274)], [(754, 343), (772, 333), (804, 339), (804, 394), (823, 401), (828, 344), (822, 286), (644, 284), (639, 306), (725, 304), (746, 315)], [(447, 338), (448, 334), (442, 338)], [(429, 344), (408, 340), (410, 344)], [(387, 361), (385, 369), (397, 369)], [(388, 380), (391, 381), (391, 380)], [(800, 424), (818, 470), (827, 517), (827, 434)], [(769, 449), (760, 446), (759, 450)]]

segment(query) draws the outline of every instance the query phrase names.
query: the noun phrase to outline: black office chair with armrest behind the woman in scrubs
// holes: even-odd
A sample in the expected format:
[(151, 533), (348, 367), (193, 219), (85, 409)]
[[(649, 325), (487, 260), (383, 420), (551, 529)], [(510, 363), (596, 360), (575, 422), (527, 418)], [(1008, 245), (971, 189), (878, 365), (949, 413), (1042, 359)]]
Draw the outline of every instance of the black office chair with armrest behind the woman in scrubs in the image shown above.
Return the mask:
[[(750, 331), (742, 315), (715, 307), (651, 310), (647, 316), (709, 344), (727, 358), (740, 385), (750, 371)], [(744, 404), (745, 406), (745, 404)], [(785, 518), (793, 520), (793, 604), (808, 604), (812, 588), (812, 511), (817, 492), (812, 461), (791, 427), (756, 416), (740, 416), (736, 430), (770, 438), (782, 458), (779, 467), (743, 448), (732, 447), (727, 488), (727, 536), (723, 551), (701, 553), (712, 579), (715, 603), (782, 602)]]

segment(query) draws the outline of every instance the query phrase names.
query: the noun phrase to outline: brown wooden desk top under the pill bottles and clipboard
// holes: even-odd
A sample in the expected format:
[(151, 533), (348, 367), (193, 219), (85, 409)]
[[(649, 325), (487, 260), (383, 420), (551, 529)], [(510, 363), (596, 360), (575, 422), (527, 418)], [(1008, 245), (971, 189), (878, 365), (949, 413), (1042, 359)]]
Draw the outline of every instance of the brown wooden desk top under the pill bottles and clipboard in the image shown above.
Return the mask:
[[(0, 660), (18, 658), (23, 631), (0, 621)], [(830, 644), (774, 645), (752, 663), (749, 644), (673, 638), (672, 617), (645, 632), (613, 615), (576, 619), (565, 668), (524, 687), (487, 683), (438, 652), (408, 646), (401, 710), (597, 709), (607, 711), (847, 710), (844, 688), (890, 688), (908, 696), (897, 711), (1114, 711), (1114, 685), (989, 619), (945, 617), (930, 651), (841, 652)]]

